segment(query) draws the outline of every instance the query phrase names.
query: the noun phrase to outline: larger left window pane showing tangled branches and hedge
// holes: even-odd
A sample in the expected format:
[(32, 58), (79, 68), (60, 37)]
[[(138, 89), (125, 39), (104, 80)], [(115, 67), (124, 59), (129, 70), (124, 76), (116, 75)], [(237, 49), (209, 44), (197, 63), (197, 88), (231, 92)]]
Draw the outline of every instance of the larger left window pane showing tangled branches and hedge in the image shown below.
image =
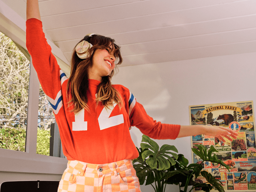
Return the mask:
[(25, 152), (29, 59), (0, 32), (0, 148)]

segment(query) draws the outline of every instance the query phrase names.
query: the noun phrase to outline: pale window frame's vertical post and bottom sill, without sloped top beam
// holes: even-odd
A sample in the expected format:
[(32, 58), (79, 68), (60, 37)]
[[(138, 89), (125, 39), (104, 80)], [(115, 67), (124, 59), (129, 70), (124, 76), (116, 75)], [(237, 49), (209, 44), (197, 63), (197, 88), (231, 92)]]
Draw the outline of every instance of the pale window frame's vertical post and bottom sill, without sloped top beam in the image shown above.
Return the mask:
[[(0, 166), (3, 172), (63, 174), (68, 160), (62, 157), (36, 154), (37, 119), (39, 105), (39, 80), (36, 70), (30, 63), (29, 99), (27, 112), (26, 151), (13, 151), (0, 148)], [(62, 153), (63, 154), (63, 153)]]

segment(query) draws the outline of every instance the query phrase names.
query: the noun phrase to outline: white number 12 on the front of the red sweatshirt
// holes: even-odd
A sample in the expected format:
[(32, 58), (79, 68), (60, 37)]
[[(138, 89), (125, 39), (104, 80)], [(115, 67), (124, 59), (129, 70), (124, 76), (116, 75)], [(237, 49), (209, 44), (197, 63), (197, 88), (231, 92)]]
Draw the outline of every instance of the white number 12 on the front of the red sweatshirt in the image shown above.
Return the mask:
[[(117, 103), (110, 106), (110, 110), (104, 107), (99, 115), (98, 122), (100, 130), (107, 129), (124, 123), (123, 114), (109, 117)], [(84, 109), (75, 114), (75, 122), (72, 122), (72, 131), (87, 131), (87, 121), (84, 121)]]

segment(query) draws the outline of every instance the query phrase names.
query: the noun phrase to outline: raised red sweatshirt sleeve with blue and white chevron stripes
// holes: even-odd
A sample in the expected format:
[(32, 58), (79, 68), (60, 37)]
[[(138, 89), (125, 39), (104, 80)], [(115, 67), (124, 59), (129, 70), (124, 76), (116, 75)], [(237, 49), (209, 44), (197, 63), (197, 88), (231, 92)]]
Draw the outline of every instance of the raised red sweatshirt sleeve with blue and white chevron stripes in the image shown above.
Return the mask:
[(67, 77), (52, 54), (42, 29), (42, 22), (38, 19), (31, 18), (26, 21), (26, 46), (42, 89), (54, 114), (57, 114), (63, 106), (61, 85)]

